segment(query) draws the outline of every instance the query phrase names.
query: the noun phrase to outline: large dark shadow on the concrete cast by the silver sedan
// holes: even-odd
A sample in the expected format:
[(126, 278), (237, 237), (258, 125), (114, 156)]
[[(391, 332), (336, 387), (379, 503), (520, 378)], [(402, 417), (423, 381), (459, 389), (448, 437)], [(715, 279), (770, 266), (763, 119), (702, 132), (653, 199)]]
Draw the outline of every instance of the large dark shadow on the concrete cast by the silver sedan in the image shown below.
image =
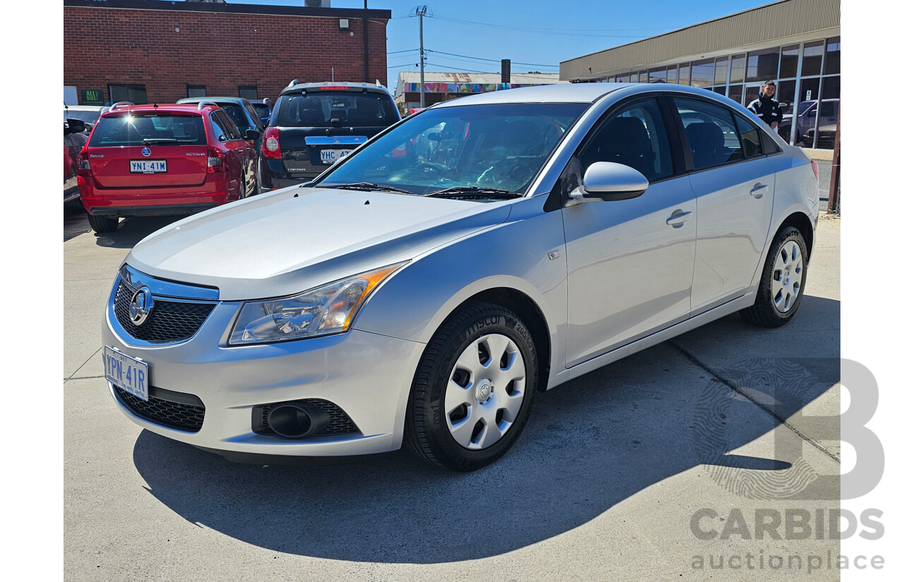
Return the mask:
[[(838, 301), (807, 300), (816, 314), (837, 311)], [(783, 337), (768, 330), (751, 340), (738, 316), (695, 333), (718, 335), (716, 346)], [(840, 337), (837, 328), (825, 333)], [(726, 478), (799, 484), (799, 450), (732, 451), (837, 383), (837, 352), (706, 365), (720, 360), (717, 349), (694, 338), (667, 342), (538, 394), (513, 449), (469, 474), (433, 469), (405, 451), (347, 464), (243, 465), (147, 430), (133, 461), (147, 491), (185, 520), (269, 550), (384, 563), (498, 556), (570, 531), (693, 467), (730, 491)], [(837, 503), (836, 487), (837, 480), (817, 493)]]

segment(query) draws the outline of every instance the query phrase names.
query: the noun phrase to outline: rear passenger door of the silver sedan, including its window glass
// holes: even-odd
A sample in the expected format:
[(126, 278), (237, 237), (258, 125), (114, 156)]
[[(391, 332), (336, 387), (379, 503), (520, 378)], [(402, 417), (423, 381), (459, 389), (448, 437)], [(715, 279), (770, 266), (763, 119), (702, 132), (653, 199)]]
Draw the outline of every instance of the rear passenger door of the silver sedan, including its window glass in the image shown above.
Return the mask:
[(673, 102), (692, 154), (697, 197), (696, 315), (749, 290), (767, 243), (776, 179), (758, 126), (710, 100)]

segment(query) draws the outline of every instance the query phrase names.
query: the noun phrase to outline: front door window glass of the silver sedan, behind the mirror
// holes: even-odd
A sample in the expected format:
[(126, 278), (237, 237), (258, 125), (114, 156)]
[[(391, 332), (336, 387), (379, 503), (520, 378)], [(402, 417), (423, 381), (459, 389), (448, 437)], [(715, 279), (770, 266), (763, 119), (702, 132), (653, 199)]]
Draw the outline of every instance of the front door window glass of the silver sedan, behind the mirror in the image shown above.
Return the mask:
[(654, 181), (671, 176), (672, 153), (655, 99), (636, 101), (609, 115), (578, 152), (580, 175), (594, 162), (616, 162)]

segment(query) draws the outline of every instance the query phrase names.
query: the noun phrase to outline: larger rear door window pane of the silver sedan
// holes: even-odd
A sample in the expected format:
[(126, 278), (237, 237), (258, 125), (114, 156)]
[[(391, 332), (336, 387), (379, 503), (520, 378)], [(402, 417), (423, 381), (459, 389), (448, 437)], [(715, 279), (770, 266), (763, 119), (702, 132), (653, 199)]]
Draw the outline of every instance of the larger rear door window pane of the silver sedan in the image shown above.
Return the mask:
[(691, 147), (694, 170), (744, 159), (728, 109), (697, 99), (676, 98), (674, 102)]

